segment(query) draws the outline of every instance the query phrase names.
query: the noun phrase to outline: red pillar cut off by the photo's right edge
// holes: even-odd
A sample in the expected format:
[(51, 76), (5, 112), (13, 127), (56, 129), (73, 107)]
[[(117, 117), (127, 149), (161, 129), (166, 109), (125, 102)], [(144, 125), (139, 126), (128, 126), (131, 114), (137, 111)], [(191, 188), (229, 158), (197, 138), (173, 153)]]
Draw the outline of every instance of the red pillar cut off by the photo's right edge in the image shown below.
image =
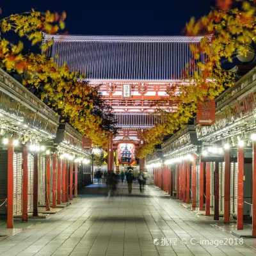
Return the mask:
[(253, 141), (253, 170), (252, 170), (252, 237), (256, 237), (256, 141)]

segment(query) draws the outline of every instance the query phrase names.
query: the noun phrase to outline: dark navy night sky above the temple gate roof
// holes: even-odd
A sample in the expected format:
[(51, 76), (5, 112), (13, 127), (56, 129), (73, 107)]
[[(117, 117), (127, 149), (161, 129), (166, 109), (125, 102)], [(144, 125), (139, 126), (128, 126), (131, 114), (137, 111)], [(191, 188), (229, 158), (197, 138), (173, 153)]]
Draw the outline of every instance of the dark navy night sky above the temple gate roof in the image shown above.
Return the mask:
[(0, 18), (31, 8), (51, 12), (65, 10), (69, 34), (182, 35), (190, 17), (207, 14), (214, 3), (214, 0), (3, 0)]

